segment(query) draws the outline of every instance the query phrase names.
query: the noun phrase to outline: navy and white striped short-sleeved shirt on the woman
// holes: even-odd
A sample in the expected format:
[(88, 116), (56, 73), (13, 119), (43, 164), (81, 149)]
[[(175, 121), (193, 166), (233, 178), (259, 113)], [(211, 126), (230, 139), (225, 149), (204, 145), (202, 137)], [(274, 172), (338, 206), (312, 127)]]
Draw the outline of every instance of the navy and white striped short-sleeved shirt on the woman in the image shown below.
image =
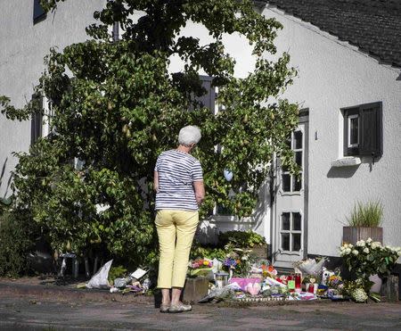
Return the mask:
[(203, 180), (200, 161), (188, 153), (170, 150), (160, 154), (154, 170), (159, 173), (156, 211), (198, 210), (192, 183)]

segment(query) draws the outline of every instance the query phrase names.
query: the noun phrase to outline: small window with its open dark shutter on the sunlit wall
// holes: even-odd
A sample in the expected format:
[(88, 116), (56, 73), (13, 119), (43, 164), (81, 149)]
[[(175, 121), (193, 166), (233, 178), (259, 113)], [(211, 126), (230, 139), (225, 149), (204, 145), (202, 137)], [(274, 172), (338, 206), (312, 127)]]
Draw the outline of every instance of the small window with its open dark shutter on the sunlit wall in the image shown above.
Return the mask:
[(344, 115), (344, 154), (381, 156), (381, 102), (360, 104), (341, 111)]

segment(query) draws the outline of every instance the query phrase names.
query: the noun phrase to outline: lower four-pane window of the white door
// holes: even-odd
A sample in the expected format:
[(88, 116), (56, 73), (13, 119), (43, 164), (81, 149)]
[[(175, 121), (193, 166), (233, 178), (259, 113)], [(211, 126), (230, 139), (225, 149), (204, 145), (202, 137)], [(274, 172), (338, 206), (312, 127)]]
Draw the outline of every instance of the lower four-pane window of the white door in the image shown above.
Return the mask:
[(299, 212), (283, 212), (281, 219), (281, 249), (288, 252), (299, 252), (302, 247), (302, 219)]

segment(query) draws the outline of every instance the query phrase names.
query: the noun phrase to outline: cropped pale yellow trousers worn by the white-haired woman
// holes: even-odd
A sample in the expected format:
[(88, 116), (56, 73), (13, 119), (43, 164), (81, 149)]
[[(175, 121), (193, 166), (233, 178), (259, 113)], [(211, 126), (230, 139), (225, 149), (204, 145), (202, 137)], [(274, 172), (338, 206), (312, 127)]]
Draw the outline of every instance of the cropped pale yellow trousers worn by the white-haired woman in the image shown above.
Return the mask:
[(198, 211), (161, 210), (156, 214), (160, 245), (159, 288), (184, 287)]

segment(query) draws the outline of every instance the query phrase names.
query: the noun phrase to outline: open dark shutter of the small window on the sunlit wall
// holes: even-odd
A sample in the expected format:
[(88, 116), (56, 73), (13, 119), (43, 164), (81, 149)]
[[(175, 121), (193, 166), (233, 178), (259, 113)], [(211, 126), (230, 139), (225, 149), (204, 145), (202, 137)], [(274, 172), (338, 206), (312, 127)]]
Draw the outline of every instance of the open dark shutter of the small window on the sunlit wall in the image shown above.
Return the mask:
[(381, 156), (381, 103), (362, 105), (359, 116), (359, 155)]

